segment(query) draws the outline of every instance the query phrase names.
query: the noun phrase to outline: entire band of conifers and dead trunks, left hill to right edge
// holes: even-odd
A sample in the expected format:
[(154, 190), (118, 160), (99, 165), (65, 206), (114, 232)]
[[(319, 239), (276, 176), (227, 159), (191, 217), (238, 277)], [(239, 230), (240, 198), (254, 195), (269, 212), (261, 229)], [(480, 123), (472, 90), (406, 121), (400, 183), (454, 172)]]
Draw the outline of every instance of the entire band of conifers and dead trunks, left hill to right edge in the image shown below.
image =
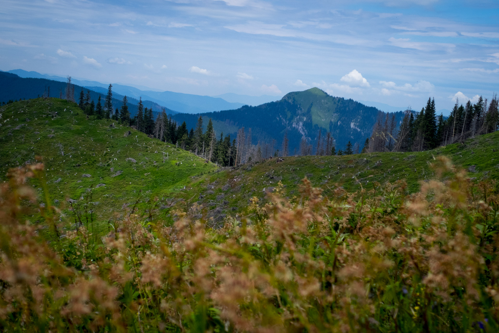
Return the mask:
[(119, 121), (150, 137), (176, 144), (221, 166), (237, 166), (271, 157), (298, 154), (331, 156), (359, 152), (423, 151), (463, 141), (478, 134), (490, 133), (498, 130), (499, 126), (497, 95), (494, 95), (490, 102), (481, 96), (475, 104), (469, 100), (466, 105), (460, 105), (457, 100), (449, 117), (444, 117), (443, 114), (436, 116), (435, 99), (429, 98), (421, 112), (408, 108), (400, 124), (397, 123), (395, 114), (380, 112), (372, 135), (365, 140), (362, 150), (358, 143), (352, 145), (351, 141), (348, 141), (343, 150), (336, 150), (336, 140), (332, 133), (330, 131), (322, 133), (322, 129), (319, 129), (315, 146), (309, 144), (303, 137), (298, 150), (294, 148), (294, 151), (290, 152), (287, 131), (280, 147), (275, 139), (271, 139), (270, 142), (258, 141), (254, 145), (251, 128), (246, 130), (245, 127), (240, 128), (236, 138), (231, 141), (230, 135), (224, 137), (221, 133), (220, 137), (217, 137), (212, 118), (209, 118), (206, 131), (202, 115), (198, 118), (196, 128), (188, 130), (185, 121), (177, 123), (171, 115), (166, 114), (165, 109), (154, 119), (152, 108), (144, 107), (142, 98), (137, 105), (137, 114), (131, 117), (127, 102), (127, 96), (124, 96), (121, 108), (113, 110), (110, 84), (103, 105), (100, 96), (97, 103), (90, 101), (90, 92), (87, 90), (85, 94), (83, 88), (80, 91), (78, 105), (89, 116), (95, 115), (97, 119)]

